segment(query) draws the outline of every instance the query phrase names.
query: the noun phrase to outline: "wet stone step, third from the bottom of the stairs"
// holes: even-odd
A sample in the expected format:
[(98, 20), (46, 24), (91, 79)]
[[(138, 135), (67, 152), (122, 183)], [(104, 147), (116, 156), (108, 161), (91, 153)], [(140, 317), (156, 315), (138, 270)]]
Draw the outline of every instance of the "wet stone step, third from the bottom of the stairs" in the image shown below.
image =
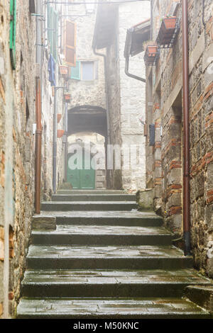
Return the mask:
[(192, 257), (175, 247), (31, 245), (28, 269), (184, 269)]

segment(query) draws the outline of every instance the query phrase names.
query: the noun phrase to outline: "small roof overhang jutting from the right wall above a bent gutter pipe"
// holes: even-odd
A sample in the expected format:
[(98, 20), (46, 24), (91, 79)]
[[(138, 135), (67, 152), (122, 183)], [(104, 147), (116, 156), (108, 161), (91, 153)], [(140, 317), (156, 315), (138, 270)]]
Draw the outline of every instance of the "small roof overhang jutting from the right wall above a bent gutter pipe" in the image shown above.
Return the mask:
[(144, 51), (143, 43), (150, 39), (151, 19), (136, 24), (127, 30), (124, 57), (133, 57)]

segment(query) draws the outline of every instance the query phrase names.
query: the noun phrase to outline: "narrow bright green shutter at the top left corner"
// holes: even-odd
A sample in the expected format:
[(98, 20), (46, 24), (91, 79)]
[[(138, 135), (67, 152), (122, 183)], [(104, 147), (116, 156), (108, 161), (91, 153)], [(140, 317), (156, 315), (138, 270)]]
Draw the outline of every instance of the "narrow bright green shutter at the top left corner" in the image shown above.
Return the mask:
[(16, 0), (10, 1), (10, 53), (12, 68), (16, 68)]

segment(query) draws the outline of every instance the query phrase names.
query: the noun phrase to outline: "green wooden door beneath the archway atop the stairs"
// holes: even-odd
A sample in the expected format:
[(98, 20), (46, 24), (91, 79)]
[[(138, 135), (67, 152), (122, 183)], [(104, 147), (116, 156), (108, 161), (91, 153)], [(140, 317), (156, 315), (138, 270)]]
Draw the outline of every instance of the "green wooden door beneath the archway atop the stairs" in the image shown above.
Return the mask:
[[(91, 189), (95, 188), (95, 170), (90, 167), (90, 169), (84, 169), (84, 165), (86, 164), (84, 160), (83, 154), (83, 169), (70, 169), (69, 161), (72, 157), (72, 154), (68, 154), (67, 159), (67, 181), (72, 184), (73, 189)], [(76, 161), (75, 161), (76, 162)], [(76, 163), (75, 163), (76, 164)], [(86, 164), (88, 165), (88, 164)], [(91, 166), (91, 162), (90, 162)]]

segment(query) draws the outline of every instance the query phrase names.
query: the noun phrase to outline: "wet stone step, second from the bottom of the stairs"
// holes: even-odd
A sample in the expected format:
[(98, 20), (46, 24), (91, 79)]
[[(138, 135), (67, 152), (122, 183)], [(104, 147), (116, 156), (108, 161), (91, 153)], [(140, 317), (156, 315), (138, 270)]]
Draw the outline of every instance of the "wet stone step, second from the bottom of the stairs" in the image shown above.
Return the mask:
[(26, 271), (24, 297), (181, 297), (189, 285), (209, 284), (193, 269), (150, 271)]

